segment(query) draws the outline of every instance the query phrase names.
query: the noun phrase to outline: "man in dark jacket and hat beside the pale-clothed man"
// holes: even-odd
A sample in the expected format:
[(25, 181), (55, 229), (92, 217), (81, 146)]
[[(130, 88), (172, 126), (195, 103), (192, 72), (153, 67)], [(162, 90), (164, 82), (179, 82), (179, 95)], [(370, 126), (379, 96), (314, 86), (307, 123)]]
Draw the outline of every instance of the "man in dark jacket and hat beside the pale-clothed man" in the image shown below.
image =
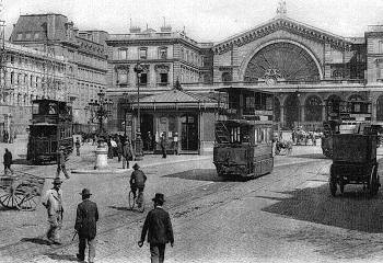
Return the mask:
[(91, 192), (88, 188), (82, 190), (82, 202), (77, 207), (74, 230), (79, 233), (79, 253), (77, 259), (84, 261), (85, 248), (88, 242), (89, 262), (94, 262), (95, 256), (95, 236), (96, 221), (98, 220), (97, 205), (91, 202)]

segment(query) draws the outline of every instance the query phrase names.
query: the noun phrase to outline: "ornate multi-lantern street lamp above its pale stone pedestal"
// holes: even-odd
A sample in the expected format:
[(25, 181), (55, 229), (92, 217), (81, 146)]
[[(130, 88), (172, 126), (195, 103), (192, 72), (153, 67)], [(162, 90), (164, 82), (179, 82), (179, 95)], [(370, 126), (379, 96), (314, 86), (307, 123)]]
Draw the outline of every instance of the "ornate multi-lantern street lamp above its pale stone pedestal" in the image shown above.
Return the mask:
[(105, 134), (103, 122), (111, 114), (113, 105), (113, 101), (111, 99), (106, 99), (105, 95), (105, 91), (100, 90), (97, 93), (98, 100), (91, 100), (91, 102), (88, 103), (92, 118), (94, 116), (98, 121), (98, 135)]

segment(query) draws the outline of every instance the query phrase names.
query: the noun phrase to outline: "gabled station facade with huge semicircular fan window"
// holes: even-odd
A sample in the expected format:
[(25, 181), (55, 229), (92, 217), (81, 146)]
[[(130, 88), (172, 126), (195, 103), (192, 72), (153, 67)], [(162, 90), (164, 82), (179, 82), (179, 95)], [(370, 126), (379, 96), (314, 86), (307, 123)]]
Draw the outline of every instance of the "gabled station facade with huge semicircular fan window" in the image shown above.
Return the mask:
[(383, 26), (350, 38), (279, 13), (213, 46), (214, 84), (274, 92), (275, 121), (286, 128), (321, 128), (338, 100), (371, 101), (371, 121), (383, 124), (382, 36)]

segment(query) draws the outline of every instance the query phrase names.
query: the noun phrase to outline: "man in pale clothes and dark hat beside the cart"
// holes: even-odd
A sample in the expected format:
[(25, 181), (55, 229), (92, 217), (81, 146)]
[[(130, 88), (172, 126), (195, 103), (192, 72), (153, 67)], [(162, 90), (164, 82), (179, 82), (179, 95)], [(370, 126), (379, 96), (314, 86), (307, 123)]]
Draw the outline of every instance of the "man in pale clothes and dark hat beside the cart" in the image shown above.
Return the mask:
[(59, 230), (62, 226), (62, 191), (61, 180), (56, 178), (53, 182), (54, 187), (48, 190), (43, 197), (43, 205), (48, 211), (49, 229), (47, 231), (47, 238), (51, 243), (60, 244)]

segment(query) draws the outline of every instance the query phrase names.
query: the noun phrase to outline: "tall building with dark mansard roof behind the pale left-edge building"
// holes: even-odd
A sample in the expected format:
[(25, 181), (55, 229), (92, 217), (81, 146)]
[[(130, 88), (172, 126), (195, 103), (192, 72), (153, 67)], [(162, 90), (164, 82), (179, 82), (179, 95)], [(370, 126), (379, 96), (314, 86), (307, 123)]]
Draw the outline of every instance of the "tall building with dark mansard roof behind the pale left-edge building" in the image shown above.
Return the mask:
[(67, 59), (65, 100), (72, 103), (73, 122), (86, 124), (88, 103), (106, 89), (107, 37), (104, 31), (79, 31), (67, 16), (47, 13), (20, 15), (10, 41)]

